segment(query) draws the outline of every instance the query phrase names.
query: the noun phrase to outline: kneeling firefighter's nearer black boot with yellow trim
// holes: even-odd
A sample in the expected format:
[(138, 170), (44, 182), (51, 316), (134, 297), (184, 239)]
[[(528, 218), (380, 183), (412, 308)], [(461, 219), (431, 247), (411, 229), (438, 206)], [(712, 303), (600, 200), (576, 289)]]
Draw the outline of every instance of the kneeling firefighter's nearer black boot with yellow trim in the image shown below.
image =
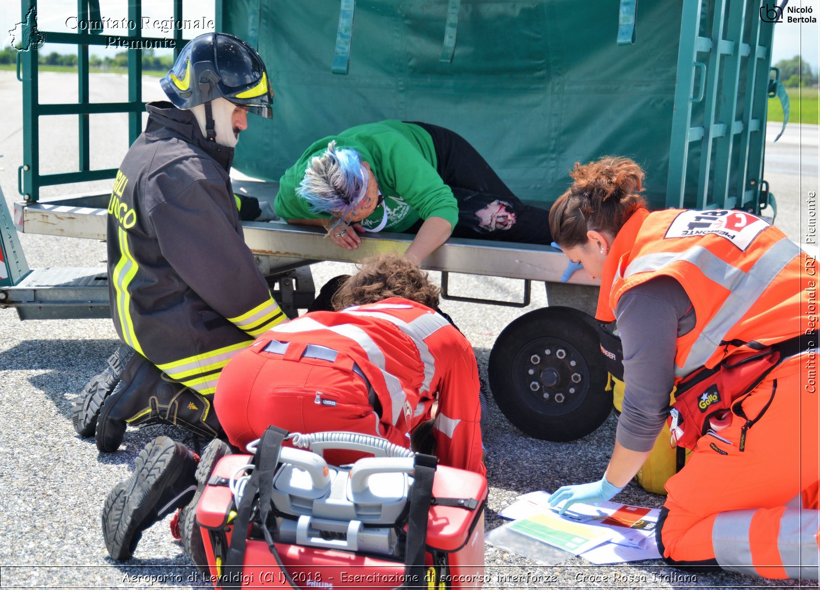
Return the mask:
[(131, 363), (120, 383), (103, 403), (97, 423), (97, 448), (116, 451), (127, 426), (176, 424), (200, 437), (221, 432), (211, 400), (175, 382), (148, 359)]

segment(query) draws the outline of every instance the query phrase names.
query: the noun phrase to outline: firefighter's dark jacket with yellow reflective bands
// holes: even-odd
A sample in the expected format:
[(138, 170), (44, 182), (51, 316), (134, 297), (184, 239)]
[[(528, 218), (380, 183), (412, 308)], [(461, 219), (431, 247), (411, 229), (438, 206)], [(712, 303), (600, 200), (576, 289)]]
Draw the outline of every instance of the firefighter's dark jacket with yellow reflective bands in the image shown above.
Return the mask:
[(108, 204), (108, 278), (122, 341), (212, 393), (227, 361), (285, 315), (244, 243), (228, 172), (234, 150), (194, 115), (149, 103)]

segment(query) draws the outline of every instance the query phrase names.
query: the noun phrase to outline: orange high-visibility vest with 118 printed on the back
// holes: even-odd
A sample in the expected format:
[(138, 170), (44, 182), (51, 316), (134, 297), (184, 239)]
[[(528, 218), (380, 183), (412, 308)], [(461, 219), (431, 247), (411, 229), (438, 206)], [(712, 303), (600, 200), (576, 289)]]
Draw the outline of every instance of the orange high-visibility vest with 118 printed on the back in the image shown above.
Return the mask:
[(615, 319), (618, 300), (654, 277), (681, 283), (695, 328), (677, 340), (675, 377), (713, 367), (736, 350), (810, 332), (817, 260), (763, 219), (733, 210), (633, 214), (604, 263), (596, 317)]

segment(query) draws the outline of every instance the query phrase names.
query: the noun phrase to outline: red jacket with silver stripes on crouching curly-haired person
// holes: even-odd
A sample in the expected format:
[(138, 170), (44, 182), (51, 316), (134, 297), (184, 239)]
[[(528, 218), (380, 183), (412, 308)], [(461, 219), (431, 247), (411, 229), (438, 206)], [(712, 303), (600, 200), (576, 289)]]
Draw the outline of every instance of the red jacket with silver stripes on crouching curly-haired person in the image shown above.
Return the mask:
[(347, 355), (367, 376), (385, 428), (409, 433), (430, 418), (438, 400), (436, 455), (442, 464), (485, 473), (476, 359), (469, 341), (440, 314), (399, 298), (339, 313), (308, 313), (272, 328), (244, 354), (261, 350), (271, 339)]

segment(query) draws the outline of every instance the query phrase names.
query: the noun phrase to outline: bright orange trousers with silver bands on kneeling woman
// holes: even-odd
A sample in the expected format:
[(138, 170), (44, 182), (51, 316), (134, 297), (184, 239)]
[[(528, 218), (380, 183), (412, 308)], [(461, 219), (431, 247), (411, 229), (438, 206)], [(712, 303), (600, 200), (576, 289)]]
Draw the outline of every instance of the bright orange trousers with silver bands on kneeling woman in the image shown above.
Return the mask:
[[(659, 530), (668, 561), (765, 578), (818, 578), (820, 355), (788, 359), (701, 437), (667, 482)], [(665, 516), (665, 520), (663, 519)]]

